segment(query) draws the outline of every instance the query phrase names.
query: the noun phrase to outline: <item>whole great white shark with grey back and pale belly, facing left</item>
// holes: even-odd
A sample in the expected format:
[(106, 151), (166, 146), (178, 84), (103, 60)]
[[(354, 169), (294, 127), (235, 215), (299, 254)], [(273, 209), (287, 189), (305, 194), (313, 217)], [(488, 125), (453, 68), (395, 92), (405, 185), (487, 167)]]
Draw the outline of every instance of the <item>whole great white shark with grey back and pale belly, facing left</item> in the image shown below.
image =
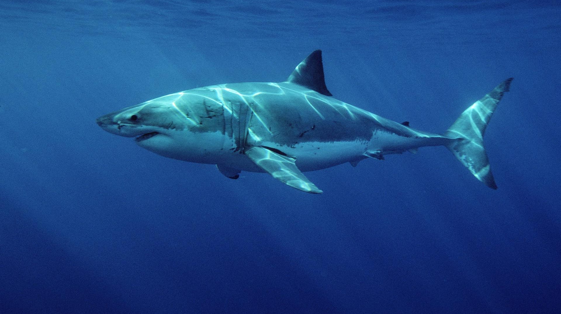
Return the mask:
[(356, 166), (424, 146), (447, 147), (473, 176), (496, 189), (483, 135), (511, 81), (468, 107), (446, 132), (422, 132), (332, 97), (316, 50), (285, 82), (194, 88), (103, 115), (97, 123), (162, 156), (217, 165), (231, 179), (241, 171), (268, 172), (309, 193), (322, 191), (302, 172), (345, 162)]

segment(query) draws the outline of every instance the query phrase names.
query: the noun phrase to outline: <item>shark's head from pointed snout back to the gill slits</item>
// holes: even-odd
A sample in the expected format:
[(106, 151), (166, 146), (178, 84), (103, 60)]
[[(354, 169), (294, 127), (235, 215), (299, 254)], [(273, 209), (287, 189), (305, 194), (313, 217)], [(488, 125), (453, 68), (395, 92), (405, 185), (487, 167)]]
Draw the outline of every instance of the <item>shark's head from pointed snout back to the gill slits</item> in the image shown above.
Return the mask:
[(209, 109), (217, 112), (211, 118), (218, 118), (222, 104), (205, 100), (193, 93), (174, 93), (100, 116), (96, 122), (105, 131), (134, 137), (140, 147), (165, 157), (211, 160), (209, 152), (222, 149), (224, 126), (219, 125), (220, 119), (208, 119)]

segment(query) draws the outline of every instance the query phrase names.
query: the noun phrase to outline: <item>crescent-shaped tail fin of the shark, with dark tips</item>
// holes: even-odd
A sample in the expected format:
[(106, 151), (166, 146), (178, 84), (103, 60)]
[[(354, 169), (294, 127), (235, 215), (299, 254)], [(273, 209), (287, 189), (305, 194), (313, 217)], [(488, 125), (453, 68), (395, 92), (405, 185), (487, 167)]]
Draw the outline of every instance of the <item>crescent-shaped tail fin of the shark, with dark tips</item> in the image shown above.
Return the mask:
[(483, 146), (483, 134), (493, 111), (504, 92), (509, 91), (512, 77), (507, 78), (493, 91), (471, 105), (450, 126), (445, 135), (452, 140), (446, 147), (466, 166), (477, 180), (496, 189), (489, 160)]

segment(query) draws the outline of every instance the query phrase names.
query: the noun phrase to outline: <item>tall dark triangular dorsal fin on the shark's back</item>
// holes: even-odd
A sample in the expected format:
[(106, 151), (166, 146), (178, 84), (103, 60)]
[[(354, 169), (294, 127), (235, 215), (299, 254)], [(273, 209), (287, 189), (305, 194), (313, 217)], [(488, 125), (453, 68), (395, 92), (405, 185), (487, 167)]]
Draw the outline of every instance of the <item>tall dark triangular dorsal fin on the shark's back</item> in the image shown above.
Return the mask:
[(312, 52), (304, 61), (300, 62), (288, 77), (287, 82), (310, 88), (310, 90), (326, 96), (333, 96), (325, 86), (321, 50)]

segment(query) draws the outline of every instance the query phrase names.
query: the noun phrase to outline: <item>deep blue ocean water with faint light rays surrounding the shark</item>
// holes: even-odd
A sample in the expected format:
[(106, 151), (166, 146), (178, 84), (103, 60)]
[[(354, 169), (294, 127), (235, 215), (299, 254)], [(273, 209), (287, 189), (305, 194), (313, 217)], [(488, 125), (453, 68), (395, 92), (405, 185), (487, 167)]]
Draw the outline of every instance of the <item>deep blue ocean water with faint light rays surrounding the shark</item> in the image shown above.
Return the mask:
[[(2, 1), (0, 312), (559, 313), (557, 1)], [(498, 190), (443, 147), (266, 174), (160, 157), (95, 119), (284, 81), (430, 132), (514, 77)]]

